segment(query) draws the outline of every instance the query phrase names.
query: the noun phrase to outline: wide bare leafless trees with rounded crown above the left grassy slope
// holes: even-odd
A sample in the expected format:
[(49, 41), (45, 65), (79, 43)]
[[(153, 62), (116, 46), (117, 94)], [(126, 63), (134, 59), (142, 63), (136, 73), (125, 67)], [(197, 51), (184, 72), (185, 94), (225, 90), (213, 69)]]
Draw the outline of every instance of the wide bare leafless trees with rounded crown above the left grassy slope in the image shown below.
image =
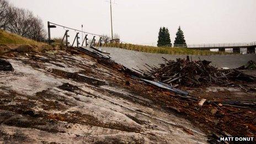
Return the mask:
[(0, 12), (4, 9), (4, 14), (1, 14), (4, 15), (3, 20), (0, 22), (3, 26), (0, 28), (36, 41), (45, 39), (46, 31), (40, 18), (34, 17), (29, 10), (9, 6), (6, 0), (0, 2)]

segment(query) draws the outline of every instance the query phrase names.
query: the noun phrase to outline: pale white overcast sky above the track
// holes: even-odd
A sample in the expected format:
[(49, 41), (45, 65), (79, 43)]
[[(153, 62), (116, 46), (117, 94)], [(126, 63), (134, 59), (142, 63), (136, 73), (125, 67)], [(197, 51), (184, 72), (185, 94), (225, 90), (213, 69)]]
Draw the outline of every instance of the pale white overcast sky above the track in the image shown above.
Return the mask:
[[(47, 21), (96, 34), (111, 34), (106, 0), (9, 0)], [(114, 0), (113, 0), (114, 1)], [(114, 33), (121, 40), (152, 45), (160, 26), (172, 43), (180, 25), (187, 44), (256, 41), (255, 0), (115, 0)], [(52, 31), (61, 37), (63, 29)], [(73, 33), (72, 33), (73, 35)]]

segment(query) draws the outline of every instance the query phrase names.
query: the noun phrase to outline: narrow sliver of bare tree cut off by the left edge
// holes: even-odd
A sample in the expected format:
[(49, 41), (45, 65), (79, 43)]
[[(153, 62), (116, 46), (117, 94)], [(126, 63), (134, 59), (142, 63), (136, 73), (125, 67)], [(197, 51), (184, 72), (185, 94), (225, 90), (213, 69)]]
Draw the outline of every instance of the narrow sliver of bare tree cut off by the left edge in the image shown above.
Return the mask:
[(0, 29), (6, 29), (8, 24), (9, 3), (6, 0), (0, 0)]

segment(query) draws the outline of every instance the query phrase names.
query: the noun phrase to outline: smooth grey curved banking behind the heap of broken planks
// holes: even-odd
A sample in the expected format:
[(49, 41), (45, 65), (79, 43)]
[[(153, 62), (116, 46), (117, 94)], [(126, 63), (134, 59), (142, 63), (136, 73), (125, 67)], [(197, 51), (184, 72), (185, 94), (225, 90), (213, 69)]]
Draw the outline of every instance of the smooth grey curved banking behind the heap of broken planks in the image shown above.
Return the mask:
[[(137, 68), (145, 70), (145, 63), (148, 65), (158, 66), (159, 63), (163, 63), (162, 57), (167, 60), (176, 60), (176, 58), (186, 58), (186, 55), (168, 55), (168, 54), (152, 54), (147, 52), (138, 52), (120, 49), (116, 47), (98, 47), (98, 49), (110, 53), (110, 57), (121, 63), (126, 67)], [(210, 55), (210, 56), (196, 56), (191, 55), (192, 60), (207, 60), (212, 61), (212, 65), (216, 67), (228, 67), (228, 68), (237, 68), (243, 65), (250, 60), (256, 61), (256, 54), (246, 54), (246, 55)]]

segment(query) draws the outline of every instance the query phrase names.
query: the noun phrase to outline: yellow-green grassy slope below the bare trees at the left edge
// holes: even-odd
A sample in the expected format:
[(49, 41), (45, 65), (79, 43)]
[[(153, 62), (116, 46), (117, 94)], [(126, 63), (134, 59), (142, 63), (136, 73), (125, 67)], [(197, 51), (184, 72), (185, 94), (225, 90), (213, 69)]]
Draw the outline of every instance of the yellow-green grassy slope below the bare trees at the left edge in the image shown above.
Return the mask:
[(23, 38), (17, 34), (8, 33), (0, 29), (0, 44), (18, 44), (18, 45), (45, 45), (45, 43), (37, 42), (31, 39)]

